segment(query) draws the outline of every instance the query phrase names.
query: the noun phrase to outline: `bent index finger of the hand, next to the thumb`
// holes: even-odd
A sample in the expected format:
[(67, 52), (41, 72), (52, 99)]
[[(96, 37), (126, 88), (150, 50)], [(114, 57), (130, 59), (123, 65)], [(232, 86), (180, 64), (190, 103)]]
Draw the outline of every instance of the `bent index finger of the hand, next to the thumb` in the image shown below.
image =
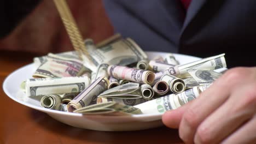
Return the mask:
[(234, 77), (229, 77), (228, 79), (220, 77), (216, 80), (184, 113), (179, 125), (179, 136), (184, 142), (192, 142), (198, 125), (228, 99), (232, 85), (235, 83), (231, 82)]

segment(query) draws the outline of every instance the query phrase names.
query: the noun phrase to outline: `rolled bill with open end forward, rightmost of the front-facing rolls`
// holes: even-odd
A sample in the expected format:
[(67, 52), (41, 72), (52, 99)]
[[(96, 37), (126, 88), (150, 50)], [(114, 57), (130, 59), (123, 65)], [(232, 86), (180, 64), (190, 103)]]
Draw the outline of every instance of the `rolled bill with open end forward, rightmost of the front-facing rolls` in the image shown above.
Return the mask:
[(171, 92), (173, 93), (181, 93), (185, 91), (185, 82), (176, 76), (165, 74), (161, 77), (160, 80), (167, 82)]

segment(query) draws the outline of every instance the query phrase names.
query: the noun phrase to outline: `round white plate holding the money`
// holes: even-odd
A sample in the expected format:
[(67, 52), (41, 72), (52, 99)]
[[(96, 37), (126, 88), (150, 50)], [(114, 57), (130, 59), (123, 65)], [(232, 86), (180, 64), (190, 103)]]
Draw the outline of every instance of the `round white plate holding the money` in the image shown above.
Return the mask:
[[(164, 56), (164, 52), (147, 52), (149, 59), (154, 56)], [(188, 63), (196, 61), (200, 58), (174, 54), (176, 59), (181, 63)], [(3, 82), (4, 92), (14, 101), (31, 107), (42, 112), (47, 113), (57, 121), (72, 125), (73, 127), (101, 130), (101, 131), (130, 131), (130, 130), (142, 130), (160, 127), (162, 124), (162, 114), (142, 114), (132, 116), (97, 116), (97, 115), (82, 115), (80, 113), (68, 113), (56, 110), (45, 109), (40, 106), (39, 100), (32, 99), (25, 96), (24, 92), (21, 92), (19, 87), (22, 81), (32, 78), (32, 74), (36, 68), (33, 64), (25, 65), (24, 67), (15, 70), (11, 73)]]

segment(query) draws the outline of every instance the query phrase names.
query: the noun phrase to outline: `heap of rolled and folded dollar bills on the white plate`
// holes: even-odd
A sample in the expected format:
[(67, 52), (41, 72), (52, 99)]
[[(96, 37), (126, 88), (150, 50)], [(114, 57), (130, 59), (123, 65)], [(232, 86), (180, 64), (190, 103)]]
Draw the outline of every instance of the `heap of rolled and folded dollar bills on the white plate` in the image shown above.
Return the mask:
[(91, 62), (77, 51), (35, 57), (33, 79), (20, 86), (26, 97), (42, 97), (46, 109), (86, 115), (163, 113), (196, 99), (226, 67), (224, 53), (185, 64), (172, 53), (149, 59), (120, 34), (84, 45)]

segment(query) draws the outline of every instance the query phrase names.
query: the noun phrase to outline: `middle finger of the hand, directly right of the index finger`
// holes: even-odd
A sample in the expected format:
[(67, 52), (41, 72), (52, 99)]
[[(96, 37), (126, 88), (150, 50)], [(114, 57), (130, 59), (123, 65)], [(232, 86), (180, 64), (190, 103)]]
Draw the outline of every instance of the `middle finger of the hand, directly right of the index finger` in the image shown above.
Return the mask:
[[(256, 85), (255, 85), (256, 86)], [(197, 128), (195, 143), (218, 143), (254, 115), (254, 85), (241, 86)], [(253, 103), (254, 102), (254, 103)]]

